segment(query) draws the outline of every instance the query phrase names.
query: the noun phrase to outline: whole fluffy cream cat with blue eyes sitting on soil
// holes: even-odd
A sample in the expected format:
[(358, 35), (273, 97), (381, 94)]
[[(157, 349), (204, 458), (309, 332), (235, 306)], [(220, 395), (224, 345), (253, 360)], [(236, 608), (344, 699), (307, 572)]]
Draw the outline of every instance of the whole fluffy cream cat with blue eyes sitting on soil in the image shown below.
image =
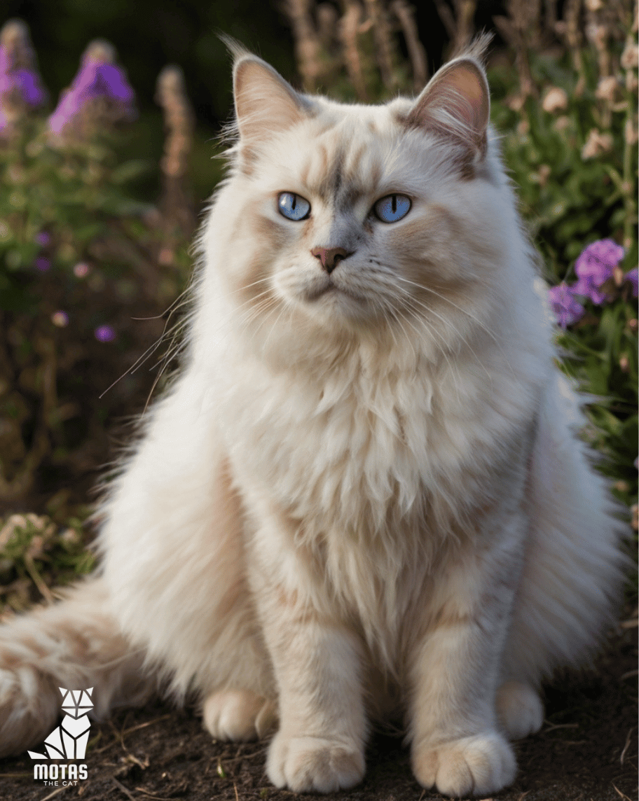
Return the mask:
[(512, 782), (542, 678), (613, 621), (622, 532), (485, 45), (379, 106), (235, 48), (184, 364), (99, 509), (98, 572), (0, 629), (2, 754), (51, 727), (58, 684), (103, 717), (168, 682), (215, 738), (275, 728), (277, 787), (353, 787), (395, 715), (423, 787)]

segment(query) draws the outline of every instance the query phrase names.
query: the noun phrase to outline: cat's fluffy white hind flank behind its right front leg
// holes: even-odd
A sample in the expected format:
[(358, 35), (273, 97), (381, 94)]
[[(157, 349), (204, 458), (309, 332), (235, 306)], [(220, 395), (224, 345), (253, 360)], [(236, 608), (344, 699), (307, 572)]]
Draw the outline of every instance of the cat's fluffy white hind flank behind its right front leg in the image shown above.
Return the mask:
[(615, 622), (628, 527), (577, 436), (585, 422), (579, 397), (557, 375), (540, 409), (532, 530), (504, 654), (507, 678), (538, 684), (556, 667), (587, 662)]

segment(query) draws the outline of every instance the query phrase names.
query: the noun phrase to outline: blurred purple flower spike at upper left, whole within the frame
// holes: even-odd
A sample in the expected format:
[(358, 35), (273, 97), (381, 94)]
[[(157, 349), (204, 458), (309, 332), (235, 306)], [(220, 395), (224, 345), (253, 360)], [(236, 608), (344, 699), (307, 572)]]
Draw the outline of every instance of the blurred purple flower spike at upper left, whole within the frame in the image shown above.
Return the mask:
[(115, 64), (114, 47), (96, 40), (85, 50), (80, 70), (71, 87), (61, 95), (49, 127), (60, 134), (71, 123), (86, 127), (87, 118), (94, 124), (135, 119), (134, 101), (135, 92), (126, 73)]

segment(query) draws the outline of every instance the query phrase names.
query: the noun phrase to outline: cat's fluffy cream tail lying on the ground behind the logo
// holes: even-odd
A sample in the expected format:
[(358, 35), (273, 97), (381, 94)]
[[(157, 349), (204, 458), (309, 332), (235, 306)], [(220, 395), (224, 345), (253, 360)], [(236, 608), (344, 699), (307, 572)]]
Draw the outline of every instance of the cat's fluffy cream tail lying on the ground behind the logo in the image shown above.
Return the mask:
[(155, 689), (109, 612), (107, 590), (90, 578), (62, 601), (0, 626), (0, 757), (39, 745), (60, 714), (66, 690), (95, 687), (93, 716), (136, 704)]

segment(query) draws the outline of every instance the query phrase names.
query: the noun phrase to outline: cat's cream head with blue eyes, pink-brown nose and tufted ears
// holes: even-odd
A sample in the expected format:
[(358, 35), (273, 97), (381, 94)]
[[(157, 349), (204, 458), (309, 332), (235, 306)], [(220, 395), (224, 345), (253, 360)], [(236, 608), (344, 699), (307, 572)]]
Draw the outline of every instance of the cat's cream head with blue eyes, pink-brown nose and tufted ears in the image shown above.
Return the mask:
[(477, 50), (381, 106), (301, 95), (245, 52), (233, 90), (237, 144), (204, 247), (247, 320), (434, 343), (487, 328), (517, 223)]

